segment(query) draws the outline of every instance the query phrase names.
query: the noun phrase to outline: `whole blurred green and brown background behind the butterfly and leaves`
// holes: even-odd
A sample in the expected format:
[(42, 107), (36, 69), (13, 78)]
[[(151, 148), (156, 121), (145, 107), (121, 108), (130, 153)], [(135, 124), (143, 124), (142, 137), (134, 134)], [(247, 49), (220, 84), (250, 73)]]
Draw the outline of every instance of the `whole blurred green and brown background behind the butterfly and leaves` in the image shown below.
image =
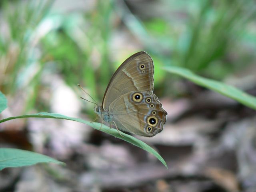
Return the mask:
[(67, 166), (0, 172), (0, 192), (255, 192), (256, 112), (165, 72), (181, 66), (256, 95), (253, 0), (1, 0), (1, 118), (36, 112), (93, 120), (114, 71), (130, 55), (154, 60), (164, 130), (136, 136), (166, 160), (85, 124), (50, 118), (0, 125), (0, 147)]

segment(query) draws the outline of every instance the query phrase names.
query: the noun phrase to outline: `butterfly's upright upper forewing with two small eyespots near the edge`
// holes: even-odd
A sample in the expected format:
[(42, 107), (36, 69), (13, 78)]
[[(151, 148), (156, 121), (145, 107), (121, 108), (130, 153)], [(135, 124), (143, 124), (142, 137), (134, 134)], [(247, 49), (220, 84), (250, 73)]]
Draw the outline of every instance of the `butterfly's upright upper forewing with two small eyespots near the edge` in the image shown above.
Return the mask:
[(154, 64), (146, 52), (138, 52), (126, 59), (112, 76), (106, 88), (102, 106), (109, 105), (118, 97), (131, 91), (153, 92)]

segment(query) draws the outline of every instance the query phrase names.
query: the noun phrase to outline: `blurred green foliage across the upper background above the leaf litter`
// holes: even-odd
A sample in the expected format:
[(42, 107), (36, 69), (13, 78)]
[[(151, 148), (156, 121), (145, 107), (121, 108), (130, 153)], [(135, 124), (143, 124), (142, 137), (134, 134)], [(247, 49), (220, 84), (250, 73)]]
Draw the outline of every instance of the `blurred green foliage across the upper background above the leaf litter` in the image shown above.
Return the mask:
[[(255, 60), (254, 1), (166, 0), (144, 17), (129, 2), (94, 2), (84, 10), (59, 11), (51, 0), (1, 1), (0, 90), (11, 96), (24, 92), (25, 111), (38, 104), (49, 71), (101, 100), (116, 67), (140, 50), (152, 56), (155, 88), (162, 94), (173, 92), (166, 90), (172, 87), (162, 66), (222, 80)], [(122, 33), (134, 41), (134, 50), (113, 46)]]

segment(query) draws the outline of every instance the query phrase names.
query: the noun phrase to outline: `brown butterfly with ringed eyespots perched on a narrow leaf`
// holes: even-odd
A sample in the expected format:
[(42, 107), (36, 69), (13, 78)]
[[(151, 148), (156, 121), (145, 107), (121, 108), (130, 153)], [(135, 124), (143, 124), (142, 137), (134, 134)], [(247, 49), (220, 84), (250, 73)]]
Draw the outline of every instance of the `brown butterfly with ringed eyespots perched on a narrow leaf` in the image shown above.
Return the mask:
[(167, 112), (153, 94), (154, 64), (149, 54), (138, 52), (113, 74), (102, 105), (94, 111), (117, 130), (152, 137), (163, 130)]

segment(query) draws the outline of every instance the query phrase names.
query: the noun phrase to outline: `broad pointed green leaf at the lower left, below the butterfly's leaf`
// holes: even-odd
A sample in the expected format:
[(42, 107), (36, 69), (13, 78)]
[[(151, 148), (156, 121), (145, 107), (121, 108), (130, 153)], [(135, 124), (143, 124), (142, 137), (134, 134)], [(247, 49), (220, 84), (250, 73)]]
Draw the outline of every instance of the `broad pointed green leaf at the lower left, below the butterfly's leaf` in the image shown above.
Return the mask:
[(13, 148), (0, 148), (0, 170), (7, 167), (21, 167), (49, 162), (65, 164), (51, 157), (31, 151)]

